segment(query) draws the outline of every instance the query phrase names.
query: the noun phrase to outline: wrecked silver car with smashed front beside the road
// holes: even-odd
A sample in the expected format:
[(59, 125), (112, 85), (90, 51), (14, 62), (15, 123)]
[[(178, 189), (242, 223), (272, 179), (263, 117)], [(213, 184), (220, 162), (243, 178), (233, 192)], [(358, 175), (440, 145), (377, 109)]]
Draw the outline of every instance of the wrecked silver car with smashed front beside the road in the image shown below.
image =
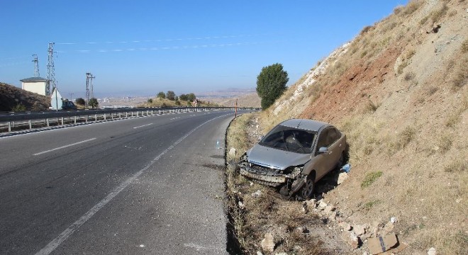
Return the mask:
[(316, 182), (347, 159), (346, 135), (328, 123), (291, 119), (279, 123), (240, 158), (240, 174), (309, 199)]

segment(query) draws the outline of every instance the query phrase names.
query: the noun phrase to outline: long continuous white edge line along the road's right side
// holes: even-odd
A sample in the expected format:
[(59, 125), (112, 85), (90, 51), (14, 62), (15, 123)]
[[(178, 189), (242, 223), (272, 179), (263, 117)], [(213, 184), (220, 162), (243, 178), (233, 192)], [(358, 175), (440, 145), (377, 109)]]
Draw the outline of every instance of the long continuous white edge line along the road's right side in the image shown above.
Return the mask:
[[(225, 114), (225, 115), (221, 115), (221, 116), (218, 116), (216, 118), (212, 118), (211, 120), (216, 120), (217, 118), (222, 118), (222, 117), (225, 117), (226, 115), (231, 115), (230, 113), (228, 114)], [(186, 135), (184, 135), (183, 137), (181, 137), (179, 140), (177, 140), (176, 142), (174, 142), (174, 144), (172, 144), (171, 146), (167, 147), (167, 149), (165, 149), (164, 152), (161, 152), (161, 154), (157, 155), (157, 157), (155, 157), (154, 159), (152, 159), (150, 161), (149, 164), (147, 164), (145, 167), (143, 167), (143, 169), (141, 169), (140, 171), (136, 172), (133, 176), (131, 176), (130, 178), (126, 179), (126, 181), (123, 181), (123, 183), (121, 183), (119, 186), (117, 186), (116, 188), (113, 189), (113, 191), (111, 191), (111, 193), (109, 193), (103, 200), (99, 201), (99, 203), (97, 203), (96, 205), (93, 206), (93, 208), (89, 209), (89, 211), (87, 213), (85, 213), (82, 217), (80, 217), (76, 222), (74, 222), (72, 225), (70, 225), (67, 229), (65, 229), (64, 232), (62, 232), (61, 234), (58, 235), (58, 237), (56, 237), (55, 239), (53, 239), (48, 245), (46, 245), (43, 249), (41, 249), (40, 251), (38, 251), (38, 253), (36, 253), (35, 255), (48, 255), (50, 254), (52, 251), (54, 251), (55, 249), (57, 249), (57, 246), (59, 246), (60, 244), (62, 244), (62, 242), (64, 242), (70, 235), (73, 234), (73, 232), (75, 232), (79, 227), (81, 227), (85, 222), (87, 222), (89, 219), (91, 219), (91, 217), (93, 217), (94, 214), (96, 214), (96, 212), (98, 212), (99, 210), (101, 210), (101, 208), (104, 207), (104, 205), (106, 205), (107, 203), (109, 203), (113, 198), (115, 198), (119, 193), (121, 193), (123, 191), (124, 188), (126, 188), (132, 181), (134, 181), (135, 179), (138, 178), (138, 176), (140, 176), (141, 174), (143, 174), (143, 172), (145, 172), (147, 169), (150, 168), (150, 166), (152, 166), (153, 164), (155, 164), (161, 157), (162, 155), (166, 154), (167, 152), (169, 152), (171, 149), (173, 149), (176, 145), (178, 145), (180, 142), (182, 142), (186, 137), (188, 137), (189, 135), (191, 135), (191, 133), (195, 132), (196, 130), (198, 130), (199, 128), (201, 128), (201, 126), (205, 125), (206, 123), (209, 123), (211, 122), (211, 120), (207, 120), (206, 122), (204, 123), (201, 123), (201, 125), (199, 125), (198, 127), (194, 128), (193, 130), (190, 130), (188, 133), (186, 133)]]

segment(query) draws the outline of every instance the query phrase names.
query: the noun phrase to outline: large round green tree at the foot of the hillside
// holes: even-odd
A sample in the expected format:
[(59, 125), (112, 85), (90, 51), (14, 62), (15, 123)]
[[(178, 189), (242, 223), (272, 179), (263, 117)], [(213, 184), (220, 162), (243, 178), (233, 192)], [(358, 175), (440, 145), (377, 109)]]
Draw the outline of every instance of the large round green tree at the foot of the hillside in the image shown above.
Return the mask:
[(288, 73), (283, 70), (282, 64), (272, 64), (263, 67), (257, 76), (257, 94), (262, 98), (262, 109), (271, 106), (286, 90)]

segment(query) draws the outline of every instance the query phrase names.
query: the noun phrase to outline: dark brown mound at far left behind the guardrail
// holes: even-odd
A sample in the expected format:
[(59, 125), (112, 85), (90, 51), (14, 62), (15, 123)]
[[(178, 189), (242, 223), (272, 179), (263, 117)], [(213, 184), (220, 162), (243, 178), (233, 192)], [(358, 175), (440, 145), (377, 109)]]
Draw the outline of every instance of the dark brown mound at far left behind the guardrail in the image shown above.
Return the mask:
[(12, 111), (18, 105), (28, 111), (43, 111), (49, 108), (50, 99), (0, 82), (0, 111)]

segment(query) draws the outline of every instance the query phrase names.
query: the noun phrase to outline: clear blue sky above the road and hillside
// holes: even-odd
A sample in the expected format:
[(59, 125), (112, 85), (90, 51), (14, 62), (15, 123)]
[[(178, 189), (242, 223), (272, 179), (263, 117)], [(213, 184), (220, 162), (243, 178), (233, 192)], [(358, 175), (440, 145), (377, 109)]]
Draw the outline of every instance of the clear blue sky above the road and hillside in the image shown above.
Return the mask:
[(31, 55), (63, 95), (149, 96), (255, 88), (282, 63), (294, 84), (318, 60), (407, 0), (1, 0), (0, 81), (33, 77)]

